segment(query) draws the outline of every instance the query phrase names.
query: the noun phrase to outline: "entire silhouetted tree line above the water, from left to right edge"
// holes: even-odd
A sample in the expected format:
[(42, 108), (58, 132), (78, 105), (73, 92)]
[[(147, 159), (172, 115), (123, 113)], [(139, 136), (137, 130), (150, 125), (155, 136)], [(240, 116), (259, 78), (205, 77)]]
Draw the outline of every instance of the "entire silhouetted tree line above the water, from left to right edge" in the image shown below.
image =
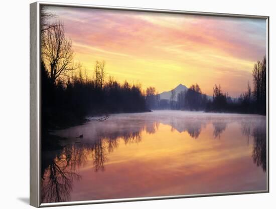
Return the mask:
[[(213, 98), (207, 98), (198, 84), (176, 95), (171, 91), (170, 100), (160, 99), (155, 87), (146, 93), (140, 85), (120, 84), (109, 78), (106, 81), (104, 62), (96, 62), (94, 77), (83, 75), (81, 65), (74, 62), (70, 38), (65, 36), (62, 22), (48, 20), (56, 17), (42, 8), (42, 125), (43, 131), (78, 124), (87, 115), (143, 112), (151, 109), (205, 110), (207, 112), (241, 112), (265, 114), (266, 58), (253, 68), (253, 91), (237, 99), (223, 93), (215, 86)], [(77, 73), (77, 70), (78, 73)]]

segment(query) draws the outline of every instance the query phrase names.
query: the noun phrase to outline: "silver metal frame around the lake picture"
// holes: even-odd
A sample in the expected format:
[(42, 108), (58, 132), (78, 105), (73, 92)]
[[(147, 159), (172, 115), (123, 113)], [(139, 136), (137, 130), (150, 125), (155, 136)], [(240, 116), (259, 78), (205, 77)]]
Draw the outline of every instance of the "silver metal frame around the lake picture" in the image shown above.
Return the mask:
[[(40, 190), (41, 189), (40, 8), (42, 5), (105, 9), (105, 10), (117, 10), (117, 11), (136, 11), (136, 12), (150, 12), (150, 13), (185, 14), (185, 15), (250, 18), (250, 19), (266, 20), (266, 56), (267, 56), (267, 61), (266, 61), (267, 62), (266, 63), (266, 66), (267, 66), (266, 189), (257, 190), (257, 191), (242, 191), (242, 192), (220, 192), (220, 193), (191, 194), (191, 195), (152, 196), (152, 197), (139, 197), (139, 198), (41, 203), (41, 197), (40, 197), (40, 193), (41, 193), (41, 190)], [(176, 10), (94, 6), (94, 5), (82, 5), (82, 4), (51, 3), (51, 2), (36, 2), (36, 3), (30, 4), (30, 204), (31, 205), (35, 207), (46, 207), (46, 206), (61, 206), (61, 205), (75, 205), (75, 204), (141, 201), (141, 200), (154, 200), (154, 199), (173, 199), (173, 198), (215, 196), (215, 195), (217, 196), (217, 195), (232, 195), (232, 194), (252, 194), (252, 193), (264, 193), (264, 192), (269, 192), (269, 17), (268, 16), (187, 12), (187, 11), (176, 11)]]

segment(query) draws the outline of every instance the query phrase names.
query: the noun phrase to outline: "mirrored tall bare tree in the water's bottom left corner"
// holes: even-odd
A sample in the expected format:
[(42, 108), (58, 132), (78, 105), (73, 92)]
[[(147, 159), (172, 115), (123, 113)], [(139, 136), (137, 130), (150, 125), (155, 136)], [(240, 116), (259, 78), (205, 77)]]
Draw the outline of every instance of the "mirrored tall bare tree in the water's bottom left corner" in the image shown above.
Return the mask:
[[(56, 155), (45, 157), (42, 153), (42, 166), (44, 172), (42, 176), (42, 202), (69, 201), (72, 191), (72, 181), (79, 180), (77, 167), (85, 161), (84, 150), (77, 149), (75, 146), (65, 148)], [(48, 162), (47, 162), (48, 160)]]

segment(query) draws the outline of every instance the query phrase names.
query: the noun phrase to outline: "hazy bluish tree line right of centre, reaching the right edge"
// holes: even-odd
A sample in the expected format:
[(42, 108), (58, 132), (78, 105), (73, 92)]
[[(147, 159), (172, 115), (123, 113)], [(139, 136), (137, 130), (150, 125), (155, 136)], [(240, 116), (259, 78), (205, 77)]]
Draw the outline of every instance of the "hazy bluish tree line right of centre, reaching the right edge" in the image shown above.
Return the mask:
[(149, 109), (173, 109), (206, 112), (235, 112), (266, 114), (266, 58), (258, 61), (252, 71), (253, 90), (248, 83), (245, 92), (232, 98), (223, 92), (220, 85), (213, 88), (213, 97), (202, 93), (198, 84), (176, 95), (171, 91), (170, 100), (160, 99), (154, 87), (146, 91), (146, 104)]

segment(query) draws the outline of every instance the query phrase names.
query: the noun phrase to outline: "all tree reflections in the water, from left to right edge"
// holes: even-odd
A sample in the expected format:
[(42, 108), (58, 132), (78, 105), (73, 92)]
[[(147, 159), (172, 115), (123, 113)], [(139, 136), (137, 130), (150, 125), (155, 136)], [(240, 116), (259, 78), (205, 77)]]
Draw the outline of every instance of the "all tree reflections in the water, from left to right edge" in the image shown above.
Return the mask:
[[(229, 121), (211, 120), (150, 120), (137, 123), (132, 128), (114, 128), (107, 132), (104, 129), (97, 132), (93, 138), (64, 146), (61, 150), (44, 151), (42, 153), (42, 202), (69, 201), (74, 180), (81, 178), (79, 168), (92, 159), (95, 172), (104, 171), (104, 165), (108, 161), (107, 154), (113, 152), (122, 139), (125, 144), (139, 143), (142, 140), (141, 133), (154, 134), (159, 124), (170, 125), (173, 130), (187, 132), (196, 139), (201, 133), (202, 127), (213, 125), (213, 137), (220, 138)], [(257, 166), (266, 170), (266, 131), (264, 125), (240, 122), (241, 133), (253, 137), (252, 159)]]

